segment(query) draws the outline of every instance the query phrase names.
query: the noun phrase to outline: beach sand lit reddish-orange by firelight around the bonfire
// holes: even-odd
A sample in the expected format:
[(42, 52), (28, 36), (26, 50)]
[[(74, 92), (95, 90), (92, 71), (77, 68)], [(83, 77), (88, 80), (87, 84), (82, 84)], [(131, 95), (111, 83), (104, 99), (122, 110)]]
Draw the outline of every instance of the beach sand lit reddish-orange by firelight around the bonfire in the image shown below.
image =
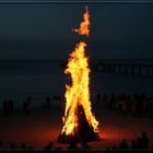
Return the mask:
[[(0, 140), (5, 146), (13, 142), (19, 148), (21, 143), (35, 149), (43, 149), (49, 141), (54, 141), (55, 148), (67, 148), (57, 143), (62, 127), (62, 111), (60, 109), (43, 109), (32, 111), (30, 116), (16, 111), (9, 117), (0, 116)], [(145, 131), (150, 138), (150, 148), (153, 148), (153, 119), (122, 116), (115, 111), (98, 109), (96, 118), (99, 121), (98, 142), (91, 142), (93, 149), (106, 149), (118, 145), (123, 138), (130, 141)]]

